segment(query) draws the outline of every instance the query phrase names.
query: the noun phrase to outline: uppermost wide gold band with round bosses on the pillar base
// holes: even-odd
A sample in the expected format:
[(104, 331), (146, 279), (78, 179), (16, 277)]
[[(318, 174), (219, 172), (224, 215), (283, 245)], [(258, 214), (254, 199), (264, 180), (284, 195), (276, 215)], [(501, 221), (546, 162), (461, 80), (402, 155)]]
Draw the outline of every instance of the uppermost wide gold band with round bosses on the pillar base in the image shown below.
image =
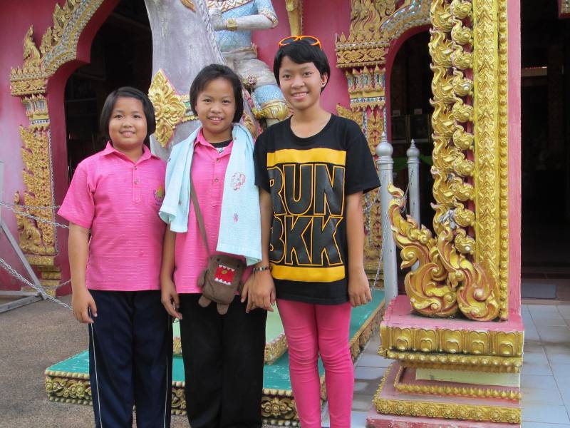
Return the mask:
[[(523, 332), (400, 328), (380, 325), (383, 352), (423, 352), (418, 361), (442, 362), (439, 353), (489, 357), (522, 357)], [(472, 360), (472, 359), (471, 359)], [(447, 359), (447, 361), (452, 362)], [(467, 360), (465, 360), (467, 361)], [(502, 361), (502, 360), (500, 360)], [(506, 361), (506, 360), (505, 360)], [(516, 361), (512, 361), (513, 363)], [(459, 364), (460, 361), (452, 362)], [(501, 363), (502, 364), (502, 363)]]

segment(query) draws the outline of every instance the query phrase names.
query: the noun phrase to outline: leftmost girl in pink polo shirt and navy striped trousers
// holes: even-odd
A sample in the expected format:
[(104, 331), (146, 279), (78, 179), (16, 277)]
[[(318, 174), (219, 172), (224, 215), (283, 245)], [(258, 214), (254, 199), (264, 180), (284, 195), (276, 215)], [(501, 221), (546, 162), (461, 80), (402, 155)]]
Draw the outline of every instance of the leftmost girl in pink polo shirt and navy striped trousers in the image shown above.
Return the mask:
[(107, 147), (82, 161), (59, 215), (70, 223), (73, 315), (89, 328), (95, 427), (170, 427), (172, 329), (160, 302), (165, 164), (145, 146), (147, 96), (123, 87), (100, 117)]

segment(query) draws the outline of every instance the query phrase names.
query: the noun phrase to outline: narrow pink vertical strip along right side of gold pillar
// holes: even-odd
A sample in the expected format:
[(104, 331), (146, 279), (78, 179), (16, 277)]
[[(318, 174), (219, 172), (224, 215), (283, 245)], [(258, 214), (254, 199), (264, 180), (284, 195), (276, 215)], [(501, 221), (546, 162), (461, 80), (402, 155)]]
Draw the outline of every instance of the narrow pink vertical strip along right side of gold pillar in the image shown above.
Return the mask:
[(509, 0), (509, 312), (521, 311), (521, 6)]

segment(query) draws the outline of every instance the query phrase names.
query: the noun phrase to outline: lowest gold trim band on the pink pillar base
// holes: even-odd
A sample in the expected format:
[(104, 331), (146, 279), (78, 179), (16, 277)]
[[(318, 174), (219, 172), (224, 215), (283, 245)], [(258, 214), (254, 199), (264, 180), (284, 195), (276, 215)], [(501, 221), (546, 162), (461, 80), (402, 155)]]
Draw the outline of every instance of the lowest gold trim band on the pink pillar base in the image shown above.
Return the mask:
[[(389, 372), (393, 369), (390, 366)], [(416, 401), (407, 399), (387, 399), (381, 394), (386, 382), (382, 378), (373, 403), (376, 411), (381, 414), (398, 414), (399, 416), (432, 417), (444, 419), (472, 420), (480, 422), (503, 422), (520, 424), (521, 409), (509, 409), (498, 406), (483, 406), (473, 404), (453, 404), (447, 402)]]

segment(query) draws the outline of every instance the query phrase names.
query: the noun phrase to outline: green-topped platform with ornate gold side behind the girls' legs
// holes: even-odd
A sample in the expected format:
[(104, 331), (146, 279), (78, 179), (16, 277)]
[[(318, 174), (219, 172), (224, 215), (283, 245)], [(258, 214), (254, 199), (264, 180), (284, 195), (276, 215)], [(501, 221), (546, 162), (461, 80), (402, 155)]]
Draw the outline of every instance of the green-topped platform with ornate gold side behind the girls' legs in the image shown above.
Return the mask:
[[(351, 315), (351, 352), (355, 359), (375, 327), (380, 323), (384, 293), (373, 290), (373, 300), (368, 305), (356, 307)], [(279, 325), (270, 322), (267, 338), (278, 337)], [(267, 352), (266, 352), (267, 356)], [(319, 360), (319, 372), (324, 378), (324, 370)], [(323, 379), (324, 380), (324, 379)], [(324, 383), (323, 383), (324, 385)], [(324, 386), (321, 389), (323, 400), (326, 399)], [(58, 402), (90, 404), (88, 351), (80, 352), (46, 369), (46, 392), (48, 398)], [(172, 413), (184, 414), (186, 401), (184, 396), (184, 368), (182, 357), (176, 355), (172, 361)], [(297, 415), (294, 397), (289, 381), (289, 352), (277, 358), (273, 364), (264, 367), (264, 397), (261, 409), (266, 423), (296, 426)]]

